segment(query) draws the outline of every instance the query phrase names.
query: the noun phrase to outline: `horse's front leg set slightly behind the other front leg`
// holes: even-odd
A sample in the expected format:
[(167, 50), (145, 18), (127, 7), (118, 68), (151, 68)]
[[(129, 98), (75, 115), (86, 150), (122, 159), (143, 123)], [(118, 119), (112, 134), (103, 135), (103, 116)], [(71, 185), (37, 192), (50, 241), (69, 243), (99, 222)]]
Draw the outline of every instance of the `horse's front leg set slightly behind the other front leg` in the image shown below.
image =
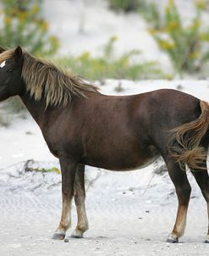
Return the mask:
[(88, 230), (88, 220), (85, 213), (85, 165), (79, 164), (74, 180), (74, 203), (76, 205), (78, 223), (71, 237), (81, 238)]

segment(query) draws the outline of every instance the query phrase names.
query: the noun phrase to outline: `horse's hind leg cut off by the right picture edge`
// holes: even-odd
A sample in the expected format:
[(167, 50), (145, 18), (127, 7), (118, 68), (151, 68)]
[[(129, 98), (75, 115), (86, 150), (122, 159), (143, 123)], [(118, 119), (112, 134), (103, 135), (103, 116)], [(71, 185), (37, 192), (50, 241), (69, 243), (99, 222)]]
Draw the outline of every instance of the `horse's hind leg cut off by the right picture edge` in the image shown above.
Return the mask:
[[(206, 168), (206, 161), (202, 164), (202, 166)], [(192, 174), (195, 176), (195, 180), (201, 188), (202, 195), (206, 199), (208, 214), (208, 231), (205, 242), (209, 243), (209, 176), (207, 170), (195, 170), (192, 171)]]

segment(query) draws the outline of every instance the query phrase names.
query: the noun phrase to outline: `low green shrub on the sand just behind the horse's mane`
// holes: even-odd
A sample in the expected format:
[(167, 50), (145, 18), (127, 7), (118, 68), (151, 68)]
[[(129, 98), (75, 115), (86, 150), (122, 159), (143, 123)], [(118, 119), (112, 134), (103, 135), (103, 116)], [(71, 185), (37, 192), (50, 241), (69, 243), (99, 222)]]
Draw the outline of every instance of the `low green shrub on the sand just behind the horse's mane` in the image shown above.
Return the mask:
[(79, 57), (59, 58), (55, 62), (63, 67), (70, 67), (74, 74), (92, 81), (101, 81), (106, 78), (140, 80), (163, 77), (156, 63), (134, 61), (134, 58), (140, 56), (139, 51), (133, 50), (115, 57), (114, 42), (116, 40), (116, 36), (111, 37), (99, 57), (91, 57), (90, 52), (85, 52)]

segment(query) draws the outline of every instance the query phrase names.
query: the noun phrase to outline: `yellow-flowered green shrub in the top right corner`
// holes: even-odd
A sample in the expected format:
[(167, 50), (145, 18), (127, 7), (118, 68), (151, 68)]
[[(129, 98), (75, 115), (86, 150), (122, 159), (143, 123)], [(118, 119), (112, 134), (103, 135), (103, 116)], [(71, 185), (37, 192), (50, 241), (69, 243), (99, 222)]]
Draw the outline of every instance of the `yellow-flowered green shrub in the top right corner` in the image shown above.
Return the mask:
[(162, 51), (168, 53), (173, 68), (180, 75), (200, 71), (209, 60), (209, 27), (204, 27), (201, 20), (206, 1), (195, 1), (195, 17), (190, 25), (184, 25), (173, 0), (168, 1), (162, 18), (155, 4), (151, 8), (149, 31)]

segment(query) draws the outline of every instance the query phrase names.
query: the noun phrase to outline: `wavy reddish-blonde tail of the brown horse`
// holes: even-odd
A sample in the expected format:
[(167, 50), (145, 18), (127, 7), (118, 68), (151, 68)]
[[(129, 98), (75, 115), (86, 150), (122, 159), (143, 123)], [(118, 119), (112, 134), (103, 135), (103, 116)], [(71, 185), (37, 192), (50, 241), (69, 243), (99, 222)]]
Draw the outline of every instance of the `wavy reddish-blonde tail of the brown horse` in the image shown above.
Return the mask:
[(200, 146), (209, 126), (209, 103), (200, 101), (201, 115), (198, 119), (174, 128), (168, 150), (171, 157), (184, 170), (185, 164), (190, 170), (206, 170), (207, 149)]

